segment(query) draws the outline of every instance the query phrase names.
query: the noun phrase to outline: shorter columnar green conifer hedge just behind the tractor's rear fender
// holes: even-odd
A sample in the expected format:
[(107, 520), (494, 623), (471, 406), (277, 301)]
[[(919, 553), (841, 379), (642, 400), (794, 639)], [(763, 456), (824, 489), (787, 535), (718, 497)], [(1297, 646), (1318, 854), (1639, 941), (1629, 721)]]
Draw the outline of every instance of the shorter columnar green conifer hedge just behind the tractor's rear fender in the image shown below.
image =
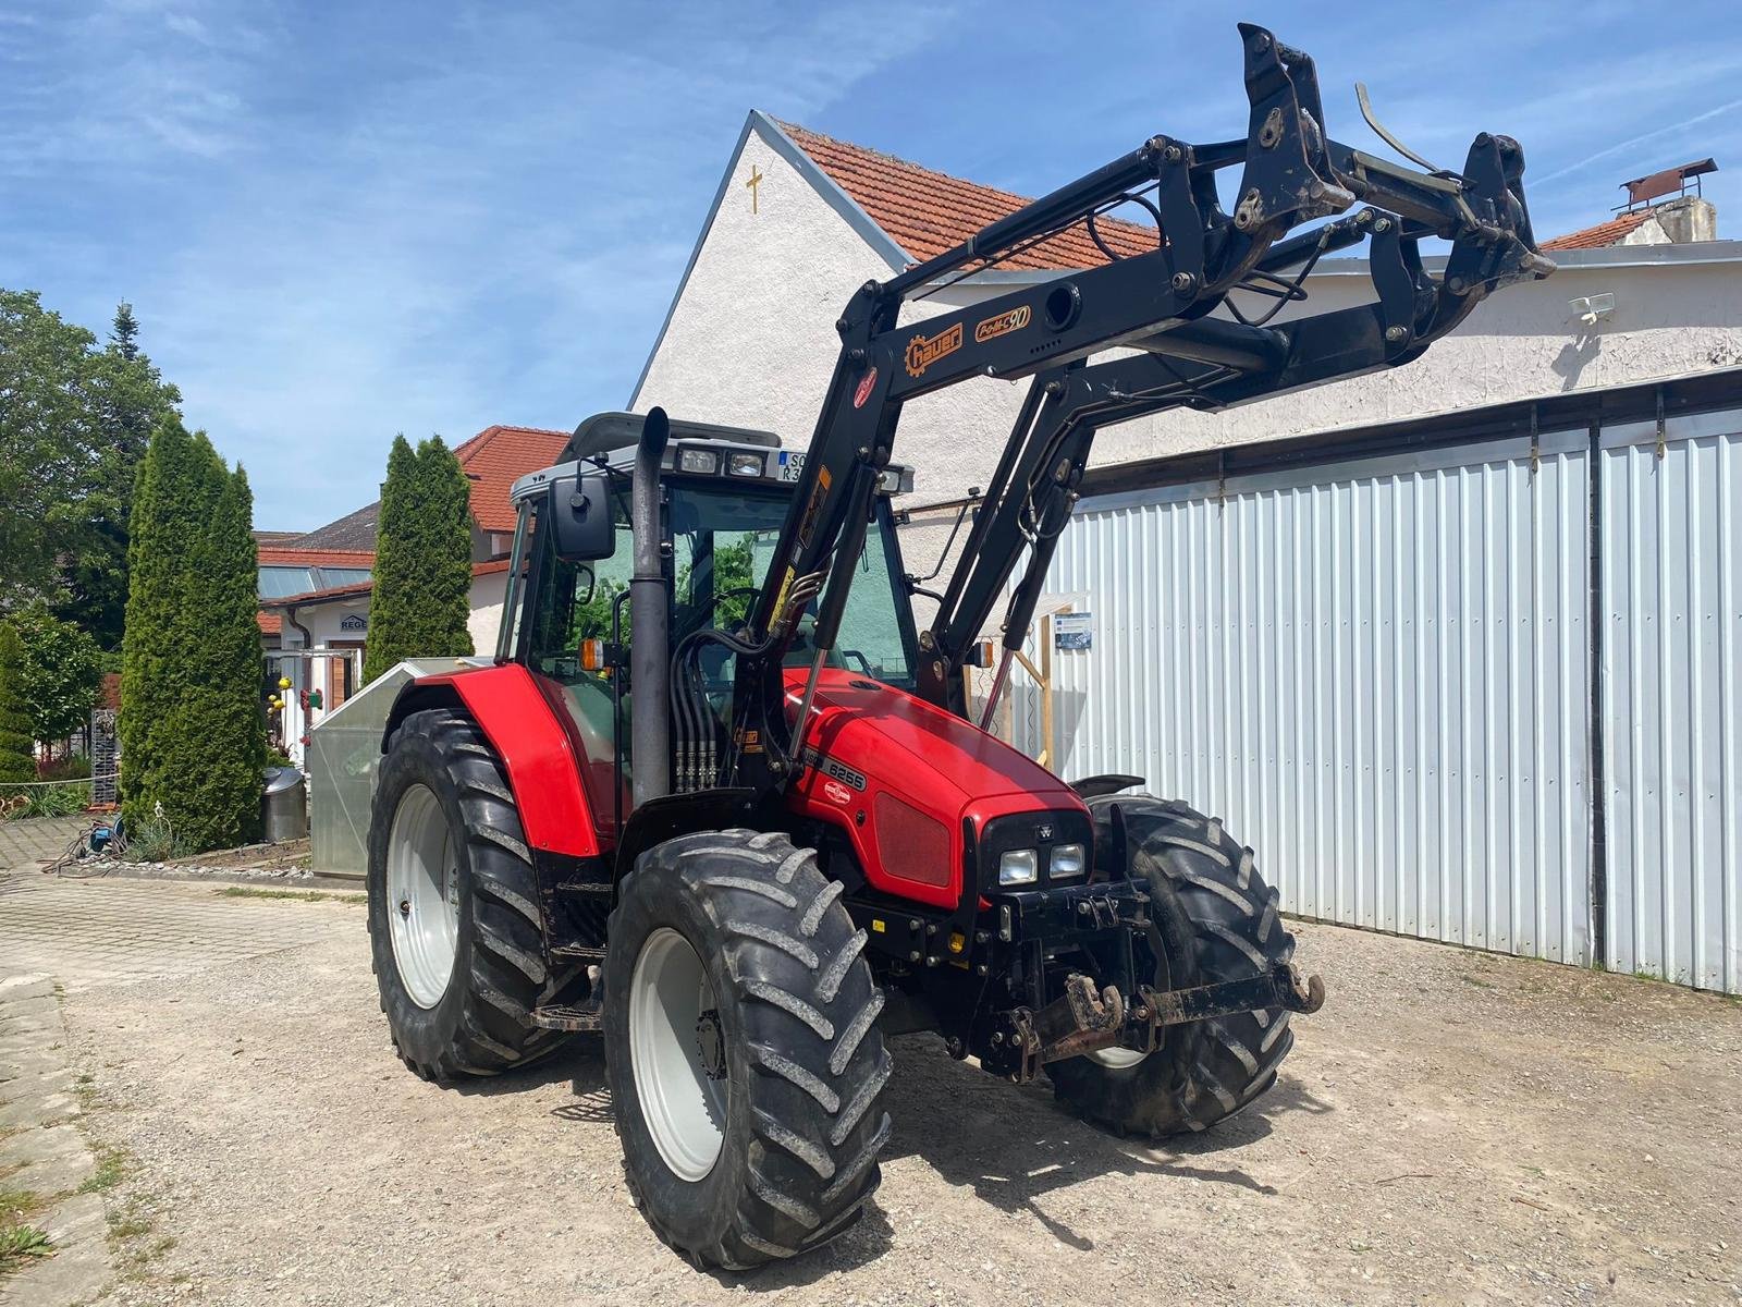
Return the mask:
[(381, 486), (362, 678), (395, 662), (472, 652), (470, 484), (439, 436), (394, 437)]

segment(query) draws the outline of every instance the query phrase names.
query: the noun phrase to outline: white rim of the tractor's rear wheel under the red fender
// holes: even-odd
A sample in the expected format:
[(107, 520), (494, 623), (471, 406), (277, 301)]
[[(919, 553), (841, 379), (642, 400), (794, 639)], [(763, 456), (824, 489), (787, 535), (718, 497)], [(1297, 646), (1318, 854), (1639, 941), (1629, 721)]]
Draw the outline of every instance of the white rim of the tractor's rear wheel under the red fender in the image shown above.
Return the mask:
[(434, 1007), (453, 978), (460, 938), (460, 857), (448, 814), (429, 786), (411, 786), (387, 836), (387, 917), (394, 965), (418, 1007)]

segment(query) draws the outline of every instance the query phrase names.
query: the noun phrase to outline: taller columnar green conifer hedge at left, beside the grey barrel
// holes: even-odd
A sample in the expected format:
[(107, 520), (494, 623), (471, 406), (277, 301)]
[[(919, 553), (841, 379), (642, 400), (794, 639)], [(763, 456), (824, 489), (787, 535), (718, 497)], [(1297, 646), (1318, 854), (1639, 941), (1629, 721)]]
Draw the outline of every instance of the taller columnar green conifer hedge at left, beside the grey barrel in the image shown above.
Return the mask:
[(188, 850), (260, 836), (260, 631), (253, 497), (174, 416), (134, 488), (122, 657), (122, 814), (162, 803)]

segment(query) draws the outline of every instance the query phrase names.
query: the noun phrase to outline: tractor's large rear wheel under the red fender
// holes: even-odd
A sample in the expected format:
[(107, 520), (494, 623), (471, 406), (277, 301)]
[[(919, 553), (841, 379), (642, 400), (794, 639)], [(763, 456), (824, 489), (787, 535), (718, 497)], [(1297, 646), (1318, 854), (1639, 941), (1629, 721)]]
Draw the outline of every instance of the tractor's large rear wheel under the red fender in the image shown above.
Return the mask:
[[(420, 863), (446, 864), (446, 892), (425, 889), (420, 897)], [(495, 1075), (568, 1039), (533, 1026), (531, 1009), (575, 1002), (591, 981), (585, 965), (552, 971), (545, 960), (531, 850), (502, 763), (477, 725), (430, 709), (394, 732), (375, 788), (368, 884), (381, 1011), (411, 1070), (442, 1082)], [(446, 924), (408, 927), (444, 897), (453, 913)]]

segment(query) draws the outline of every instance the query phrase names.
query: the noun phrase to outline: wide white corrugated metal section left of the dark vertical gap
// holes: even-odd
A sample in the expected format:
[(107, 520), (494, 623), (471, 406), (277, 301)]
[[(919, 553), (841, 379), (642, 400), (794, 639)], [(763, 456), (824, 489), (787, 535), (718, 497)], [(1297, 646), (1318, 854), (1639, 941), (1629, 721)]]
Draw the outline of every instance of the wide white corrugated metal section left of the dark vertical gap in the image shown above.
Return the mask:
[(1085, 502), (1064, 775), (1134, 772), (1303, 917), (1590, 958), (1583, 432)]

